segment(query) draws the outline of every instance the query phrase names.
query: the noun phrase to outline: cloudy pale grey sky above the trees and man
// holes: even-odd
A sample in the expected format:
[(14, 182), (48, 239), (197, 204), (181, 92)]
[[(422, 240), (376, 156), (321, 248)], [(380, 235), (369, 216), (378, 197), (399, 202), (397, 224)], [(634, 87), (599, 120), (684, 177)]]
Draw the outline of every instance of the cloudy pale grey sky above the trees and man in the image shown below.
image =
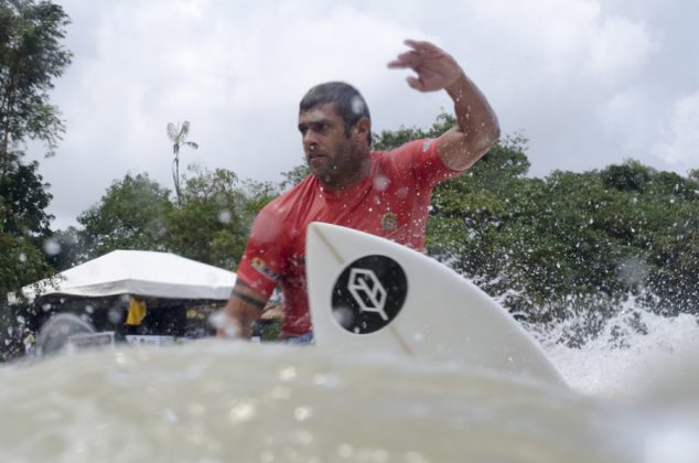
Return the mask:
[[(699, 169), (699, 2), (695, 0), (54, 0), (73, 63), (51, 93), (66, 122), (53, 158), (53, 229), (77, 225), (114, 181), (173, 189), (169, 122), (191, 122), (181, 164), (279, 181), (303, 162), (298, 104), (344, 80), (374, 131), (428, 127), (451, 111), (386, 63), (428, 40), (454, 56), (505, 136), (528, 140), (529, 174), (634, 159)], [(184, 169), (182, 169), (185, 171)]]

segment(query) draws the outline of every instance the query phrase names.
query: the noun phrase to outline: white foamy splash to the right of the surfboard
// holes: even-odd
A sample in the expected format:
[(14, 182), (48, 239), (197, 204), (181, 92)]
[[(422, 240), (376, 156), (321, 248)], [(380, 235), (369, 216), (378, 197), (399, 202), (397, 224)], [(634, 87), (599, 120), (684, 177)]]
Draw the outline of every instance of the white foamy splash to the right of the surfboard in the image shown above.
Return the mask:
[[(534, 331), (576, 390), (622, 401), (637, 400), (673, 387), (681, 372), (699, 355), (699, 324), (691, 314), (663, 316), (627, 302), (590, 332), (579, 346), (560, 340), (579, 332), (583, 315)], [(699, 398), (699, 391), (695, 396)]]

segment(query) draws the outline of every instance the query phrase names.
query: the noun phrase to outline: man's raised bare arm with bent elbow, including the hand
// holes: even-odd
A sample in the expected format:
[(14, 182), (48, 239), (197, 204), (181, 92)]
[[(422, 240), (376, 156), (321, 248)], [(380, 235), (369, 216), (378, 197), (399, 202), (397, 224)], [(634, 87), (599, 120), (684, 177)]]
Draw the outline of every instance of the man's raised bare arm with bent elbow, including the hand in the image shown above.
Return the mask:
[(493, 108), (447, 52), (429, 42), (405, 43), (412, 50), (398, 55), (388, 67), (415, 71), (417, 77), (407, 80), (418, 91), (447, 90), (454, 101), (456, 125), (439, 139), (438, 152), (453, 170), (471, 168), (499, 138)]

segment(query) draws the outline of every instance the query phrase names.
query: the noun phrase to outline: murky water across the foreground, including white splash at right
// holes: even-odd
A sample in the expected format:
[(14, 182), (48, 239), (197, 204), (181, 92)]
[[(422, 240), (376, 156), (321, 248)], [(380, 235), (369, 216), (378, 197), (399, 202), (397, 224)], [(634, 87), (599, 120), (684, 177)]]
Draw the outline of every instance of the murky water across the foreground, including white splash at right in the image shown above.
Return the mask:
[(697, 321), (643, 321), (646, 335), (613, 320), (580, 349), (541, 338), (570, 389), (218, 340), (14, 364), (0, 461), (696, 462)]

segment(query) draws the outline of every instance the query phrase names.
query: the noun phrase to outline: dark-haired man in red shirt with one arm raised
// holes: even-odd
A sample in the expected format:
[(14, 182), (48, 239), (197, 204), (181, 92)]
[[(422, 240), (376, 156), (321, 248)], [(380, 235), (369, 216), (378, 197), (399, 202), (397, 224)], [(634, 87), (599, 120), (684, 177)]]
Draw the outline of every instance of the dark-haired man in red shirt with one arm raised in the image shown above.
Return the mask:
[[(410, 68), (418, 91), (444, 89), (454, 101), (456, 126), (437, 140), (372, 152), (369, 110), (347, 84), (311, 88), (299, 111), (299, 131), (311, 175), (257, 216), (224, 310), (219, 334), (250, 337), (275, 287), (284, 298), (281, 337), (309, 340), (312, 326), (305, 287), (305, 228), (325, 222), (384, 236), (422, 249), (432, 189), (466, 171), (499, 137), (497, 119), (452, 56), (428, 42), (390, 62)], [(230, 327), (234, 330), (230, 330)]]

